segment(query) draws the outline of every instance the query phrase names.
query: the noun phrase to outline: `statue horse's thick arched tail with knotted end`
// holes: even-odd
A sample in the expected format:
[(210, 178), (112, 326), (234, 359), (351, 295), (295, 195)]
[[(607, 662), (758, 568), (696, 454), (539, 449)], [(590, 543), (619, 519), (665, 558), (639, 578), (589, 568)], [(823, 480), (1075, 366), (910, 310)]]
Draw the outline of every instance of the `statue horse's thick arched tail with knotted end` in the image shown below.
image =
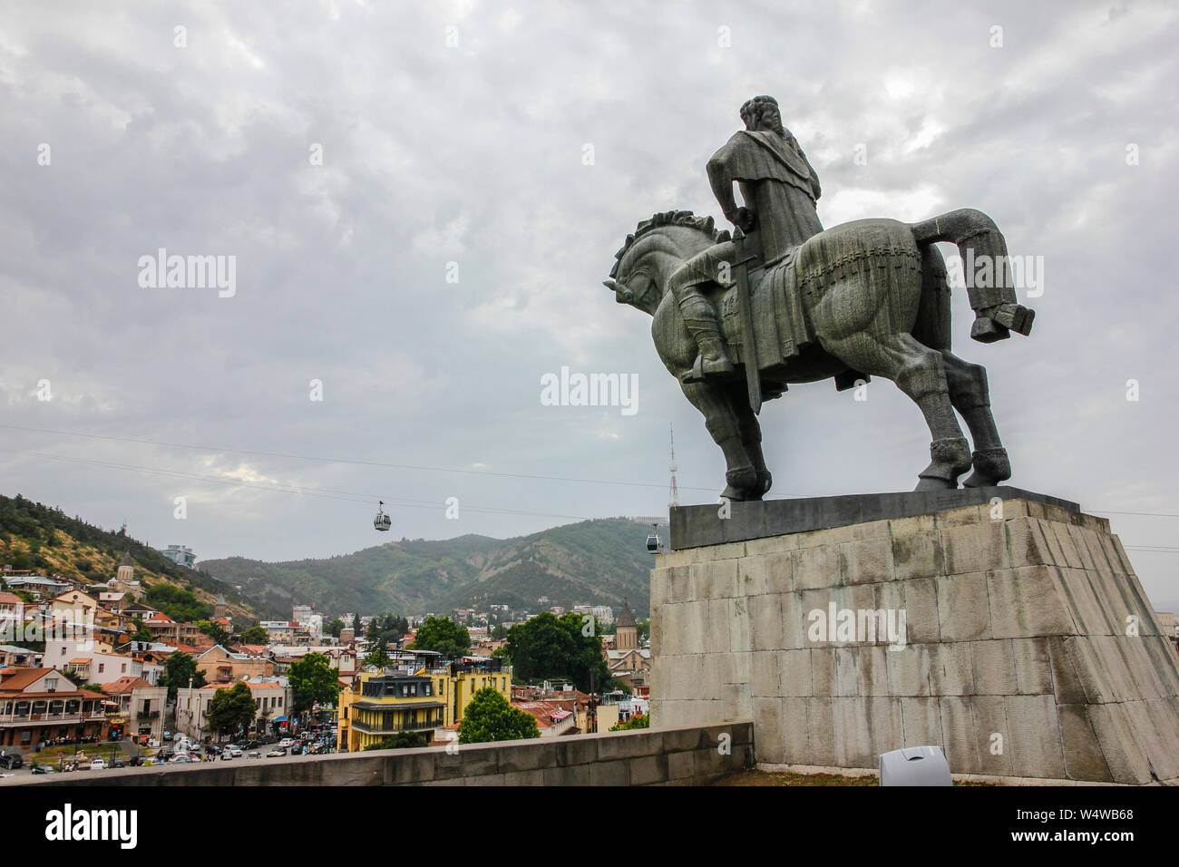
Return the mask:
[(1010, 337), (1010, 331), (1027, 335), (1032, 330), (1035, 310), (1015, 300), (1007, 242), (995, 221), (982, 211), (962, 208), (913, 223), (910, 228), (921, 247), (937, 241), (957, 247), (962, 256), (967, 296), (977, 316), (970, 327), (974, 340), (993, 343)]

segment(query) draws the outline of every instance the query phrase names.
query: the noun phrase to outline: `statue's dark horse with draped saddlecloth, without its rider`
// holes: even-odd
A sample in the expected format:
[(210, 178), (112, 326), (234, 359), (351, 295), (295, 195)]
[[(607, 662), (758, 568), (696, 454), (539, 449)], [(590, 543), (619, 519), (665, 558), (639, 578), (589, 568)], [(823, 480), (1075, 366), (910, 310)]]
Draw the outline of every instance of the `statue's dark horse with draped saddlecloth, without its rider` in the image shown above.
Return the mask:
[[(994, 281), (1010, 287), (1006, 242), (987, 215), (963, 209), (915, 224), (859, 219), (810, 237), (785, 262), (751, 274), (757, 335), (752, 352), (742, 342), (732, 298), (738, 287), (713, 283), (706, 295), (722, 313), (738, 375), (685, 382), (697, 344), (667, 281), (686, 260), (726, 238), (711, 217), (657, 214), (627, 236), (605, 281), (619, 303), (653, 316), (651, 331), (660, 360), (680, 379), (685, 396), (703, 413), (724, 452), (727, 486), (722, 498), (757, 500), (772, 481), (762, 455), (762, 428), (746, 395), (743, 368), (751, 357), (766, 399), (780, 396), (790, 383), (830, 377), (841, 389), (869, 376), (895, 382), (921, 408), (933, 436), (931, 461), (918, 473), (918, 491), (955, 488), (971, 466), (974, 472), (963, 482), (970, 487), (1010, 478), (1007, 449), (990, 412), (987, 372), (950, 352), (950, 288), (946, 262), (935, 247), (950, 242), (966, 261), (994, 263)], [(970, 269), (967, 288), (974, 302)], [(1008, 289), (1003, 297), (1014, 302), (1014, 291)], [(1030, 330), (1032, 310), (1015, 303), (1002, 308), (987, 320), (980, 315), (971, 336), (992, 342), (1009, 336), (1008, 329), (1025, 335)], [(973, 452), (955, 409), (970, 429)]]

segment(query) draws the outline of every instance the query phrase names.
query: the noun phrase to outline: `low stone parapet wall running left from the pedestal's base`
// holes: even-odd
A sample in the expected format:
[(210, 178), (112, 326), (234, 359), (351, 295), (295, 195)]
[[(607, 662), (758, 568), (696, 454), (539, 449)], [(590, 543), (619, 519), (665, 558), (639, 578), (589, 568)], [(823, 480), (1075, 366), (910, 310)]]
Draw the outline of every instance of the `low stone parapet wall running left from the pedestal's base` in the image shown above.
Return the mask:
[[(727, 738), (727, 740), (725, 740)], [(696, 786), (753, 764), (753, 723), (7, 777), (0, 786)]]

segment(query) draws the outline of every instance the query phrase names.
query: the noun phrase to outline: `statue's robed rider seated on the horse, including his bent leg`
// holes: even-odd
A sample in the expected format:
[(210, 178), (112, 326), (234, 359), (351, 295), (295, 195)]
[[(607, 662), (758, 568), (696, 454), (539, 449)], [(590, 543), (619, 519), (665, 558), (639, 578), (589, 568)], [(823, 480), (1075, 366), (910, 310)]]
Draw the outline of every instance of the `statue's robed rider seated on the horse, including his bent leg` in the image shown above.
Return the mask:
[[(709, 160), (709, 182), (725, 218), (745, 232), (739, 242), (725, 241), (693, 256), (671, 276), (671, 291), (684, 323), (699, 348), (696, 368), (710, 376), (733, 372), (720, 336), (717, 310), (700, 287), (731, 284), (730, 265), (739, 252), (752, 254), (763, 265), (785, 258), (806, 238), (823, 231), (815, 202), (818, 176), (790, 131), (782, 125), (772, 97), (753, 97), (740, 107), (745, 129)], [(733, 198), (740, 184), (744, 206)]]

